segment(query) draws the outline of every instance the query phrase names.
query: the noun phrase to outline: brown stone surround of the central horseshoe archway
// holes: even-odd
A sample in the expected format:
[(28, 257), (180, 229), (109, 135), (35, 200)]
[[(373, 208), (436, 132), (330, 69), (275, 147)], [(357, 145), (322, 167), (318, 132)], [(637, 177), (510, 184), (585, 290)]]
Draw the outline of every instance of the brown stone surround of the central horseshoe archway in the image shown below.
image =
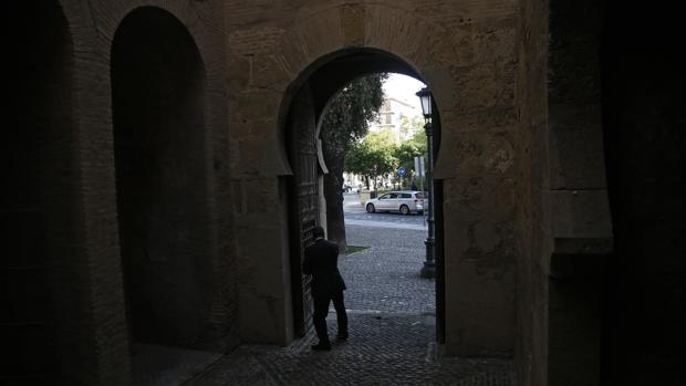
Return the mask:
[[(454, 10), (455, 11), (455, 10)], [(288, 106), (300, 84), (329, 55), (376, 50), (408, 63), (433, 86), (440, 101), (443, 125), (435, 175), (443, 180), (446, 270), (446, 352), (467, 356), (512, 355), (516, 342), (516, 264), (522, 250), (522, 221), (518, 211), (519, 159), (516, 23), (510, 9), (498, 9), (503, 22), (493, 30), (492, 17), (484, 24), (465, 19), (465, 25), (432, 22), (403, 4), (322, 3), (292, 10), (288, 25), (252, 28), (229, 35), (229, 65), (246, 69), (229, 80), (235, 100), (229, 108), (236, 146), (235, 171), (242, 195), (237, 207), (266, 202), (259, 212), (243, 211), (242, 228), (260, 229), (280, 240), (267, 248), (261, 239), (245, 236), (246, 250), (256, 251), (243, 272), (247, 278), (279, 278), (281, 286), (240, 285), (241, 328), (248, 341), (288, 342), (291, 275), (288, 216), (284, 199), (271, 198), (279, 180), (292, 170), (284, 146)], [(429, 12), (430, 13), (430, 12)], [(459, 20), (459, 19), (458, 19)], [(264, 38), (256, 46), (254, 35)], [(313, 65), (314, 64), (314, 65)], [(314, 97), (314, 101), (324, 98)], [(316, 107), (314, 107), (316, 109)], [(446, 150), (448, 149), (448, 150)], [(270, 216), (278, 220), (266, 223)], [(240, 231), (240, 230), (239, 230)], [(261, 257), (268, 257), (262, 259)], [(248, 260), (248, 259), (246, 259)], [(253, 263), (254, 262), (254, 263)], [(257, 272), (257, 273), (256, 273)], [(288, 279), (287, 279), (288, 278)], [(256, 282), (256, 281), (252, 281)], [(257, 328), (269, 315), (272, 324)]]

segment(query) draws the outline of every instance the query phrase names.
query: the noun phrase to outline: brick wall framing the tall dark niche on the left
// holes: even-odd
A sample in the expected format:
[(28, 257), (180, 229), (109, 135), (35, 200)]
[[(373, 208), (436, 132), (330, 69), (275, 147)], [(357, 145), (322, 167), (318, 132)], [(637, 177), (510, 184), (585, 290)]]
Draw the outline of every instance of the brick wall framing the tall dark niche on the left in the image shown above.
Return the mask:
[[(34, 353), (50, 353), (51, 344), (56, 342), (59, 354), (50, 361), (35, 361), (31, 364), (34, 367), (27, 368), (27, 372), (44, 374), (42, 369), (54, 368), (62, 384), (69, 385), (126, 385), (129, 384), (132, 342), (126, 322), (118, 237), (110, 75), (115, 32), (122, 20), (142, 6), (167, 12), (185, 25), (197, 45), (206, 72), (205, 91), (199, 96), (204, 104), (202, 124), (196, 127), (202, 132), (200, 137), (204, 152), (199, 153), (200, 160), (196, 165), (205, 175), (204, 204), (197, 210), (205, 215), (204, 241), (207, 252), (204, 255), (210, 265), (209, 273), (198, 279), (209, 290), (202, 295), (208, 305), (199, 316), (201, 332), (196, 334), (190, 345), (225, 351), (239, 341), (236, 246), (228, 182), (222, 2), (64, 0), (55, 1), (54, 4), (60, 8), (65, 20), (64, 35), (71, 38), (71, 42), (64, 45), (69, 48), (70, 54), (64, 56), (65, 63), (61, 64), (71, 77), (51, 77), (55, 82), (64, 82), (62, 85), (52, 85), (45, 81), (41, 87), (48, 87), (45, 90), (51, 92), (66, 90), (66, 94), (53, 105), (40, 108), (63, 114), (58, 117), (59, 124), (50, 121), (41, 123), (55, 129), (49, 136), (55, 140), (44, 143), (45, 160), (62, 166), (54, 169), (58, 171), (51, 174), (53, 177), (33, 182), (41, 184), (44, 191), (55, 192), (50, 200), (56, 204), (58, 209), (51, 215), (48, 233), (62, 233), (64, 238), (53, 244), (58, 248), (44, 251), (50, 255), (51, 265), (55, 267), (52, 284), (54, 292), (32, 286), (19, 302), (35, 305), (31, 296), (37, 293), (55, 294), (55, 299), (51, 299), (50, 306), (45, 309), (54, 323), (55, 341), (41, 337), (38, 333), (27, 335), (24, 341), (37, 343), (37, 346), (32, 346)], [(25, 20), (17, 19), (4, 25), (18, 29), (17, 23), (22, 22)], [(41, 22), (35, 28), (46, 29), (51, 22)], [(6, 35), (17, 36), (19, 46), (28, 45), (28, 38), (18, 31), (10, 31)], [(29, 62), (20, 53), (15, 59), (20, 67)], [(44, 74), (50, 73), (49, 67), (28, 69), (37, 74), (29, 73), (27, 77), (43, 79)], [(9, 114), (14, 115), (15, 112)], [(53, 157), (56, 154), (54, 152), (69, 154), (64, 153), (65, 157)], [(59, 182), (56, 177), (65, 182)], [(22, 237), (28, 234), (22, 233)], [(40, 236), (33, 242), (41, 242)], [(51, 246), (48, 241), (44, 243), (45, 247)], [(189, 302), (191, 298), (181, 301)], [(25, 361), (22, 365), (29, 363)], [(8, 374), (4, 368), (3, 373), (3, 376)]]

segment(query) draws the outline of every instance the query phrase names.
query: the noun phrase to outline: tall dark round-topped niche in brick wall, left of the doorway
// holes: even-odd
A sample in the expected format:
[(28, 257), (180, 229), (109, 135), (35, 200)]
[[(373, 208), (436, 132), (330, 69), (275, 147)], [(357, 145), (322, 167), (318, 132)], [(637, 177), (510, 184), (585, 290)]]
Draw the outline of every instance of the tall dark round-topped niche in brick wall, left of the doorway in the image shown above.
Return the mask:
[(186, 28), (139, 8), (112, 44), (117, 212), (129, 335), (206, 344), (210, 314), (205, 70)]

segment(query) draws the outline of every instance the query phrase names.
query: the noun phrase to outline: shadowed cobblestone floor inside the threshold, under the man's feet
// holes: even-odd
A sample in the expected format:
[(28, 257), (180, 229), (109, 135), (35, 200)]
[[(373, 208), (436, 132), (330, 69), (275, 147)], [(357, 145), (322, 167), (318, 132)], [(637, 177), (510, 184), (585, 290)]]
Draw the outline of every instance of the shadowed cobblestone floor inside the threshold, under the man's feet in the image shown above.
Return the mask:
[(513, 385), (510, 361), (436, 359), (433, 316), (353, 313), (350, 322), (350, 338), (331, 352), (312, 352), (313, 334), (289, 347), (242, 345), (186, 385)]

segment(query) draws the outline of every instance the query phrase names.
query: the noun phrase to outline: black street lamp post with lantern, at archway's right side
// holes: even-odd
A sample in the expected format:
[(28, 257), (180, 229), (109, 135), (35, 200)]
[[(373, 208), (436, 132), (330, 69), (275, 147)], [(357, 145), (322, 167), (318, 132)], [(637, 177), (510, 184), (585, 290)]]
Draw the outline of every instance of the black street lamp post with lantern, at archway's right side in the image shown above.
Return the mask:
[(422, 113), (424, 114), (424, 131), (426, 133), (426, 181), (428, 185), (428, 236), (424, 241), (426, 246), (426, 261), (422, 267), (422, 278), (435, 278), (436, 277), (436, 262), (434, 257), (436, 255), (436, 225), (434, 218), (434, 128), (432, 127), (432, 92), (424, 87), (416, 94), (422, 101)]

